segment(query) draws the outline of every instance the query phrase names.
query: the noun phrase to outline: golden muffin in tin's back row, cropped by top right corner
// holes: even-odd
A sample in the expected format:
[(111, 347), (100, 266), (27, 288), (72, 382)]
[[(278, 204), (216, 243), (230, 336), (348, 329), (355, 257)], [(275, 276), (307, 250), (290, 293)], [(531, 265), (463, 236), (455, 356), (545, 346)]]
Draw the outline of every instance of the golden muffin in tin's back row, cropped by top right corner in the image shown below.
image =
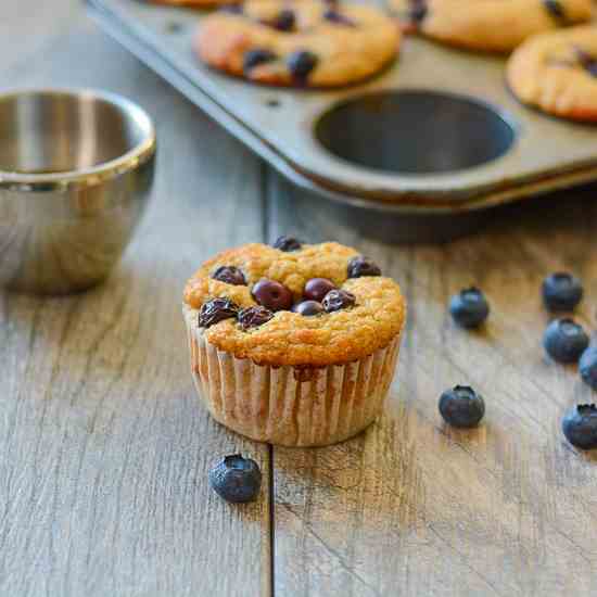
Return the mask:
[(592, 17), (590, 0), (392, 1), (406, 30), (490, 52), (511, 52), (532, 35)]

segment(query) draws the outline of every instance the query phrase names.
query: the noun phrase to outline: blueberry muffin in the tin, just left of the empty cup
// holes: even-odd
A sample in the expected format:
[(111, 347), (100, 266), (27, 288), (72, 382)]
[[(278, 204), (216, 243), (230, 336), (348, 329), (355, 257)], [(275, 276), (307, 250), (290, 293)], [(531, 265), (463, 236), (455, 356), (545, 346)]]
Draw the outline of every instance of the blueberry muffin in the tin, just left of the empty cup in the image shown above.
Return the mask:
[(204, 18), (194, 50), (213, 68), (254, 82), (336, 87), (391, 62), (399, 27), (373, 7), (249, 0)]

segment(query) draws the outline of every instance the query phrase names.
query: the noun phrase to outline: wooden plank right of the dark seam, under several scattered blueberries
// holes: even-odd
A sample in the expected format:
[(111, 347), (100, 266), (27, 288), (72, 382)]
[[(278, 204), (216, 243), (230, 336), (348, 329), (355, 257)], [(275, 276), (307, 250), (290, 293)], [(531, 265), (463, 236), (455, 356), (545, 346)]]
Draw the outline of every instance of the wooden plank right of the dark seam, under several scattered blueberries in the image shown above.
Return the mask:
[[(566, 408), (595, 395), (544, 356), (539, 301), (545, 275), (575, 271), (587, 294), (577, 318), (595, 329), (595, 192), (495, 212), (483, 234), (449, 245), (389, 247), (272, 178), (270, 238), (358, 246), (409, 301), (381, 421), (338, 446), (274, 450), (277, 595), (595, 594), (597, 460), (559, 429)], [(471, 283), (491, 301), (484, 332), (447, 315)], [(456, 383), (485, 396), (477, 430), (442, 423), (439, 396)]]

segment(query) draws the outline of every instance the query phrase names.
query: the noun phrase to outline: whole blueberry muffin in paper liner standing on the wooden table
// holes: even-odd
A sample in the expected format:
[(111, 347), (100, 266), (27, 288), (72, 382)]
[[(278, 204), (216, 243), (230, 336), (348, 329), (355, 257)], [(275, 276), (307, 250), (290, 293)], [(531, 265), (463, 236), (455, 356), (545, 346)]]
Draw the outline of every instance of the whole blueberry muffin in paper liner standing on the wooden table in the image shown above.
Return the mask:
[(355, 250), (282, 238), (206, 262), (187, 283), (183, 313), (214, 418), (254, 440), (316, 446), (381, 412), (406, 303)]

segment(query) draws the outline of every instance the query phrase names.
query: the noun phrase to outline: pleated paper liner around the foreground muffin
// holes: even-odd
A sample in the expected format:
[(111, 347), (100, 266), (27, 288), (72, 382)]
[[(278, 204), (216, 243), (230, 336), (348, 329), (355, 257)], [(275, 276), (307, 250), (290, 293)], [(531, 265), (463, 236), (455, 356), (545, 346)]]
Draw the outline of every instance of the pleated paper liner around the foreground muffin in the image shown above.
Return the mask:
[(382, 411), (394, 378), (401, 334), (345, 365), (309, 368), (257, 365), (218, 351), (185, 308), (191, 372), (212, 416), (259, 442), (322, 446), (346, 440)]

